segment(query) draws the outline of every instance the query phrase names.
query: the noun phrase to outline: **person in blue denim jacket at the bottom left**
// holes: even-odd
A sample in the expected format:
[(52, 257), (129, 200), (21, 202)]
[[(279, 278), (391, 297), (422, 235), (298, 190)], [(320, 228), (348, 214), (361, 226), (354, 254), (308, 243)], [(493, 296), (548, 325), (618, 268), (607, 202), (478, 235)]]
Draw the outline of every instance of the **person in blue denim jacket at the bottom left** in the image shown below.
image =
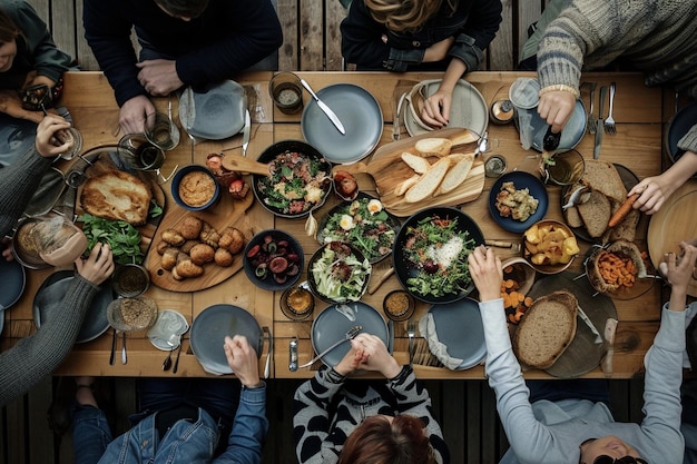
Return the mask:
[(77, 377), (76, 463), (261, 463), (268, 419), (256, 353), (240, 335), (226, 336), (220, 349), (238, 381), (138, 378), (140, 413), (116, 440), (95, 398), (95, 378)]

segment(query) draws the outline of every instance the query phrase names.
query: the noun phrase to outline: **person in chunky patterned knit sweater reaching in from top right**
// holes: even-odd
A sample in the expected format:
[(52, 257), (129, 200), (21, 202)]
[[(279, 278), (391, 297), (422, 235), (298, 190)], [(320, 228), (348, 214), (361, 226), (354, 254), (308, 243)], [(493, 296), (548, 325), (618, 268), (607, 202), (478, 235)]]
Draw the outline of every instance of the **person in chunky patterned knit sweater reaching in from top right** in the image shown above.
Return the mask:
[[(543, 33), (537, 48), (540, 80), (538, 112), (559, 132), (579, 98), (581, 70), (603, 68), (612, 61), (642, 71), (647, 86), (670, 85), (697, 98), (697, 2), (673, 0), (552, 0), (558, 16), (538, 24)], [(552, 14), (550, 14), (552, 16)], [(533, 49), (534, 43), (526, 45)], [(634, 208), (646, 214), (697, 172), (697, 124), (678, 141), (685, 150), (669, 169), (642, 179), (628, 196), (640, 194)]]

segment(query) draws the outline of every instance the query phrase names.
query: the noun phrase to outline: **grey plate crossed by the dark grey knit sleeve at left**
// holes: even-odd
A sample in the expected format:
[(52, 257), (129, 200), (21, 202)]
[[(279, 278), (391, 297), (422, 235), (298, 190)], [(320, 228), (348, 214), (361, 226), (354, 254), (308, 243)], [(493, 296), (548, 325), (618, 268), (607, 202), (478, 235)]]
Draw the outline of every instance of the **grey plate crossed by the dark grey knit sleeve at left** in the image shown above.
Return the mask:
[[(41, 324), (47, 323), (52, 317), (60, 317), (57, 312), (60, 310), (60, 303), (73, 278), (75, 273), (72, 270), (59, 270), (43, 280), (33, 298), (33, 322), (37, 327), (41, 327)], [(100, 287), (85, 316), (75, 343), (90, 342), (107, 332), (109, 328), (107, 306), (114, 298), (115, 295), (109, 285)]]

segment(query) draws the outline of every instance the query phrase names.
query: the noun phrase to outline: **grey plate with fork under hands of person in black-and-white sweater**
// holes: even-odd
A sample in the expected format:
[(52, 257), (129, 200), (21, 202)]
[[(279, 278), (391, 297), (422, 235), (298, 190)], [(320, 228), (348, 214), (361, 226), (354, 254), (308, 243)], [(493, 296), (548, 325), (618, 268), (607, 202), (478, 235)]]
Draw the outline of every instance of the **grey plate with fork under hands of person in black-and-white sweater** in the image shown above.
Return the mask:
[[(312, 347), (315, 353), (322, 353), (335, 342), (345, 338), (346, 332), (360, 325), (361, 333), (372, 334), (391, 347), (387, 325), (380, 313), (363, 302), (352, 302), (342, 305), (332, 305), (322, 310), (312, 323)], [(351, 345), (342, 343), (336, 348), (322, 357), (322, 362), (328, 366), (337, 365), (348, 353)]]

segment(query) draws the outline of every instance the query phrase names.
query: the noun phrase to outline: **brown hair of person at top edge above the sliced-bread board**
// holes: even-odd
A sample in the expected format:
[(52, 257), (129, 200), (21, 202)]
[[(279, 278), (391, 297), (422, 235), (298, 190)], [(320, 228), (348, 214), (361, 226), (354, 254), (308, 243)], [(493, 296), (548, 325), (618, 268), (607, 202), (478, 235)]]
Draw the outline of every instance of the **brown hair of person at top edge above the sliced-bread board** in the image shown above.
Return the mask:
[[(454, 12), (458, 0), (445, 0)], [(440, 9), (443, 0), (365, 0), (373, 19), (394, 32), (419, 30)]]

